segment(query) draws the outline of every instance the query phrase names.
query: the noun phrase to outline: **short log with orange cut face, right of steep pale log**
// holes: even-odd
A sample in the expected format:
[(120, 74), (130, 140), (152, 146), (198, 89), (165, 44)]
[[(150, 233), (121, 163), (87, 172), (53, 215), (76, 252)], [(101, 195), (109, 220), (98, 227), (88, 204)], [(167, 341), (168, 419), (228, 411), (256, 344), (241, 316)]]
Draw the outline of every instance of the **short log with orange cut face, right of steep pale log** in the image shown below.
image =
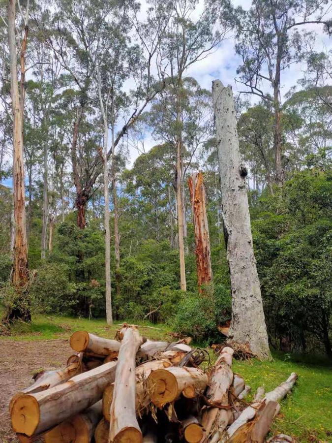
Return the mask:
[(207, 384), (208, 376), (198, 368), (172, 366), (153, 371), (148, 378), (151, 401), (159, 408), (177, 400), (181, 393), (186, 398), (194, 398)]

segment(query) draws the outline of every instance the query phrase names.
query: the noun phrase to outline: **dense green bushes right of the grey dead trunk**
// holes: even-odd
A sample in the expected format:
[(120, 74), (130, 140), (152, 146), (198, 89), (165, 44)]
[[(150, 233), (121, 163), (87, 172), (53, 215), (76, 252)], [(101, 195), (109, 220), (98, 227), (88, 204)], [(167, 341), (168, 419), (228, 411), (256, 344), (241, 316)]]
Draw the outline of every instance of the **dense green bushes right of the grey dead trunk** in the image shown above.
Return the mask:
[(331, 356), (332, 193), (329, 174), (298, 174), (252, 222), (271, 342)]

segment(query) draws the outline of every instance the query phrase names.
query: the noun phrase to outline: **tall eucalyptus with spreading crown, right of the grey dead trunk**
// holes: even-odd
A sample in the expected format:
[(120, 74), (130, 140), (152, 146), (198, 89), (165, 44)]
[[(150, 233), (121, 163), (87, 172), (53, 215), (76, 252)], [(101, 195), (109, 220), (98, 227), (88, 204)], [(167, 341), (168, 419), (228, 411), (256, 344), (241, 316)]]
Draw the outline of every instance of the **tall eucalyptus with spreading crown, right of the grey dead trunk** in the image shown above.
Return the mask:
[(255, 0), (249, 10), (241, 6), (234, 8), (228, 1), (222, 1), (219, 6), (221, 22), (232, 24), (236, 31), (235, 50), (242, 59), (237, 81), (245, 87), (241, 93), (259, 96), (273, 106), (275, 183), (282, 186), (282, 74), (302, 60), (303, 39), (309, 35), (303, 36), (301, 29), (316, 24), (331, 31), (331, 3), (329, 0)]

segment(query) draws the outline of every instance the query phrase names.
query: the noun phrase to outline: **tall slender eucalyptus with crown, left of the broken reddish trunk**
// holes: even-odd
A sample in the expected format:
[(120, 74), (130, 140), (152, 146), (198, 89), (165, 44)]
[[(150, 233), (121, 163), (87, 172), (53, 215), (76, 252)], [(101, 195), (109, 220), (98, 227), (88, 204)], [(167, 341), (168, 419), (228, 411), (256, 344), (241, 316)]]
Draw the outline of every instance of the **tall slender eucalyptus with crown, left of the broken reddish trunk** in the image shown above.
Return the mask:
[(197, 1), (171, 0), (172, 17), (169, 21), (166, 38), (158, 51), (158, 72), (161, 79), (168, 79), (175, 96), (175, 133), (176, 133), (176, 186), (177, 218), (180, 252), (181, 289), (186, 290), (184, 240), (183, 240), (183, 191), (182, 191), (182, 152), (183, 152), (183, 79), (186, 70), (194, 63), (206, 58), (225, 36), (214, 31), (215, 14), (210, 8), (204, 8), (197, 14)]

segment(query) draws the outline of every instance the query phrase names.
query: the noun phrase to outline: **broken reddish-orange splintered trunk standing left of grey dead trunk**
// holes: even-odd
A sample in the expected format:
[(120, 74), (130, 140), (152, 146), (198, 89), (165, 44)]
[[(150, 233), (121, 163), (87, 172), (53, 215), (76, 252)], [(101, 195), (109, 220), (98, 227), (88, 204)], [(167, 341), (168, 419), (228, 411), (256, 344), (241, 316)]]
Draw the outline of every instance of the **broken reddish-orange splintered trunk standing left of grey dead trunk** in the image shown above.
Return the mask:
[(199, 292), (202, 293), (202, 285), (209, 284), (212, 280), (210, 236), (203, 174), (201, 172), (192, 174), (188, 179), (188, 186), (195, 232), (197, 284)]

